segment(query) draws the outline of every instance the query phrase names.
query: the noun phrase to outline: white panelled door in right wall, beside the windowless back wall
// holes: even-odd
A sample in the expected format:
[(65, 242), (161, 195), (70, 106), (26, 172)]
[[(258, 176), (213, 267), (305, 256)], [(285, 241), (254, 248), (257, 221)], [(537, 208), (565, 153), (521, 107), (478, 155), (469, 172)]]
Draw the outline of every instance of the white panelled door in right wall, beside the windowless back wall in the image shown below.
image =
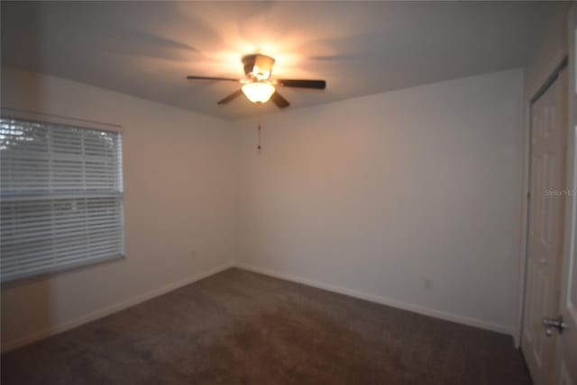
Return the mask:
[(563, 264), (566, 119), (563, 70), (531, 106), (531, 194), (527, 290), (521, 349), (535, 385), (550, 385), (557, 333), (543, 319), (559, 314)]

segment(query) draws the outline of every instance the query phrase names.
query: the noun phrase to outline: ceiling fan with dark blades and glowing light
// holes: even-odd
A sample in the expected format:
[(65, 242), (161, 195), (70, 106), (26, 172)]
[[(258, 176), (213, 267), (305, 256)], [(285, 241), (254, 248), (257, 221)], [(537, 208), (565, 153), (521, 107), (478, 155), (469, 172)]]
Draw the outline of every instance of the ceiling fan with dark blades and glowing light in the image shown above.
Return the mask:
[(325, 80), (270, 79), (275, 59), (260, 53), (243, 56), (244, 77), (234, 79), (229, 77), (187, 76), (189, 82), (195, 81), (229, 81), (238, 82), (239, 90), (229, 94), (218, 104), (225, 104), (244, 94), (252, 103), (266, 103), (269, 100), (279, 108), (289, 107), (290, 103), (276, 91), (276, 87), (312, 88), (324, 90)]

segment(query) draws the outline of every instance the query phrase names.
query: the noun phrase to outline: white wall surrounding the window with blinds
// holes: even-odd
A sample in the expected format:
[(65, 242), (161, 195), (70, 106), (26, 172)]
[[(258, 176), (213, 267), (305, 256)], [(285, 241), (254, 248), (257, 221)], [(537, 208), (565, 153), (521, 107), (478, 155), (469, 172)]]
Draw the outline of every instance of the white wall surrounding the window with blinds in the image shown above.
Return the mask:
[(2, 68), (2, 103), (122, 125), (126, 223), (124, 260), (3, 288), (3, 349), (232, 263), (230, 122), (8, 67)]

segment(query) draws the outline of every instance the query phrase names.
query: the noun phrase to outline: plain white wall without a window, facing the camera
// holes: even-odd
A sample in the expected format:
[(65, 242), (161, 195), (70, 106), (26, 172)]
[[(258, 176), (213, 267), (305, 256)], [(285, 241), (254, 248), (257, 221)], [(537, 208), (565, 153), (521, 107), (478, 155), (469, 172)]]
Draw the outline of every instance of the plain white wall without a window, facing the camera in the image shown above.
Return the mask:
[(239, 130), (239, 263), (511, 332), (523, 73), (280, 112)]

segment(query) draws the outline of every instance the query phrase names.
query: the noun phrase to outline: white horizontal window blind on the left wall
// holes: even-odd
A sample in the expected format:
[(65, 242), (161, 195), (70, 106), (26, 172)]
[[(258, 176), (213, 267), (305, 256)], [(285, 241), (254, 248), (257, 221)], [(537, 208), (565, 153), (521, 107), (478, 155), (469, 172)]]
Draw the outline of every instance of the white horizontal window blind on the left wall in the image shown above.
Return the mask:
[(0, 124), (2, 282), (122, 257), (122, 134)]

